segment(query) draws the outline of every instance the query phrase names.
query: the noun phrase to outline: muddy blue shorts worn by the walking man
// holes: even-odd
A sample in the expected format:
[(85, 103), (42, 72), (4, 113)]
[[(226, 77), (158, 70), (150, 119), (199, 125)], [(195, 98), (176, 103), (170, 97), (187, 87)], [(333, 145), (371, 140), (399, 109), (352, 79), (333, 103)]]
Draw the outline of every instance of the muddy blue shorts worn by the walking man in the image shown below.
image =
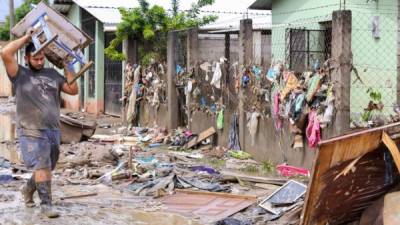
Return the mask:
[(25, 166), (38, 170), (54, 170), (60, 154), (60, 130), (24, 130), (17, 129), (19, 150)]

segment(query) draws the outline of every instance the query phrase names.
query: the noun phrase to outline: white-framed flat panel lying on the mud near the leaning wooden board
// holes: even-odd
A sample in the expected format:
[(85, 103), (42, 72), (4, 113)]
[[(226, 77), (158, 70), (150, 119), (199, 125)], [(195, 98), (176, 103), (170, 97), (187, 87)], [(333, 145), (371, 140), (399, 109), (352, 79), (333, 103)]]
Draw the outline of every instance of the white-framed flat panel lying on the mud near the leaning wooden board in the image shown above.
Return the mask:
[(299, 199), (304, 196), (306, 189), (306, 185), (290, 180), (259, 205), (275, 215), (282, 215), (298, 205)]

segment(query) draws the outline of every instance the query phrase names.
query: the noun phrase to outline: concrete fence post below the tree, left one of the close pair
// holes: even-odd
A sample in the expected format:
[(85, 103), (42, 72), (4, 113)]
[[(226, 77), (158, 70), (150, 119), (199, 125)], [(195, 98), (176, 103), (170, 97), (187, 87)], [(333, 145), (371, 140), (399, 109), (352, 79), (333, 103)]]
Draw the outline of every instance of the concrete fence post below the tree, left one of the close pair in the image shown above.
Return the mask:
[(167, 103), (168, 103), (168, 129), (175, 129), (178, 127), (178, 96), (175, 87), (175, 67), (176, 67), (176, 31), (168, 33), (167, 43)]

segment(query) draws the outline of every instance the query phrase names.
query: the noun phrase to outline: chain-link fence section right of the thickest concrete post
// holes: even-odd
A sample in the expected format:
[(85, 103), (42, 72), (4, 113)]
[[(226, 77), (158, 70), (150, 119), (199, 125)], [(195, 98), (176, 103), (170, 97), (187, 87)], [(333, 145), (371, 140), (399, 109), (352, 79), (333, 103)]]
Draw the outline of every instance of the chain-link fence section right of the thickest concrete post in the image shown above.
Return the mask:
[(352, 10), (353, 121), (387, 120), (397, 93), (397, 12)]

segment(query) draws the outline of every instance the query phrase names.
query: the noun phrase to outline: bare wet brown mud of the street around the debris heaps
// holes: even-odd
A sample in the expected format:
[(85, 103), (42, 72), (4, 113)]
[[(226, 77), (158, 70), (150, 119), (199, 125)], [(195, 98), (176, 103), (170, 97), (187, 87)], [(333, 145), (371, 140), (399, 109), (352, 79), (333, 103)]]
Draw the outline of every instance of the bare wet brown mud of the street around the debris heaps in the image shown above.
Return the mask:
[[(0, 142), (15, 143), (15, 105), (8, 99), (0, 99)], [(110, 124), (111, 128), (98, 129), (96, 133), (115, 134), (123, 125), (119, 118), (103, 116), (99, 124)], [(14, 132), (14, 133), (13, 133)], [(14, 146), (16, 148), (16, 146)], [(29, 177), (30, 172), (25, 171), (23, 165), (12, 165), (9, 168), (7, 161), (0, 159), (0, 171), (7, 172), (14, 168), (14, 179), (10, 182), (0, 182), (0, 224), (154, 224), (154, 225), (184, 225), (208, 224), (201, 222), (200, 218), (185, 218), (181, 215), (165, 213), (165, 206), (158, 198), (152, 196), (138, 196), (126, 187), (134, 181), (122, 179), (109, 183), (99, 181), (99, 177), (113, 170), (127, 153), (120, 150), (115, 153), (116, 147), (112, 143), (81, 142), (63, 144), (59, 164), (54, 171), (53, 201), (61, 217), (47, 219), (40, 214), (38, 207), (25, 208), (21, 201), (19, 188)], [(2, 149), (0, 149), (2, 151)], [(118, 150), (117, 150), (118, 151)], [(196, 151), (195, 151), (196, 152)], [(215, 151), (213, 151), (215, 153)], [(251, 163), (242, 168), (236, 168), (235, 159), (182, 159), (179, 154), (174, 155), (168, 149), (154, 148), (146, 152), (138, 152), (137, 156), (155, 156), (168, 163), (184, 163), (207, 165), (217, 170), (230, 170), (251, 175), (265, 175), (271, 173), (266, 165), (253, 165)], [(174, 155), (174, 156), (171, 156)], [(246, 161), (247, 162), (247, 161)], [(257, 169), (260, 168), (260, 169)], [(263, 169), (264, 168), (264, 169)], [(271, 174), (268, 174), (271, 176)], [(247, 183), (228, 184), (230, 193), (257, 196), (259, 200), (265, 198), (279, 186), (255, 188)], [(88, 197), (62, 199), (66, 196), (93, 194)], [(96, 194), (96, 195), (94, 195)], [(35, 202), (39, 199), (35, 194)], [(257, 204), (236, 213), (232, 218), (242, 221), (242, 224), (290, 224), (286, 220), (271, 221), (271, 214)], [(155, 219), (156, 218), (156, 219)], [(295, 219), (296, 221), (296, 219)]]

